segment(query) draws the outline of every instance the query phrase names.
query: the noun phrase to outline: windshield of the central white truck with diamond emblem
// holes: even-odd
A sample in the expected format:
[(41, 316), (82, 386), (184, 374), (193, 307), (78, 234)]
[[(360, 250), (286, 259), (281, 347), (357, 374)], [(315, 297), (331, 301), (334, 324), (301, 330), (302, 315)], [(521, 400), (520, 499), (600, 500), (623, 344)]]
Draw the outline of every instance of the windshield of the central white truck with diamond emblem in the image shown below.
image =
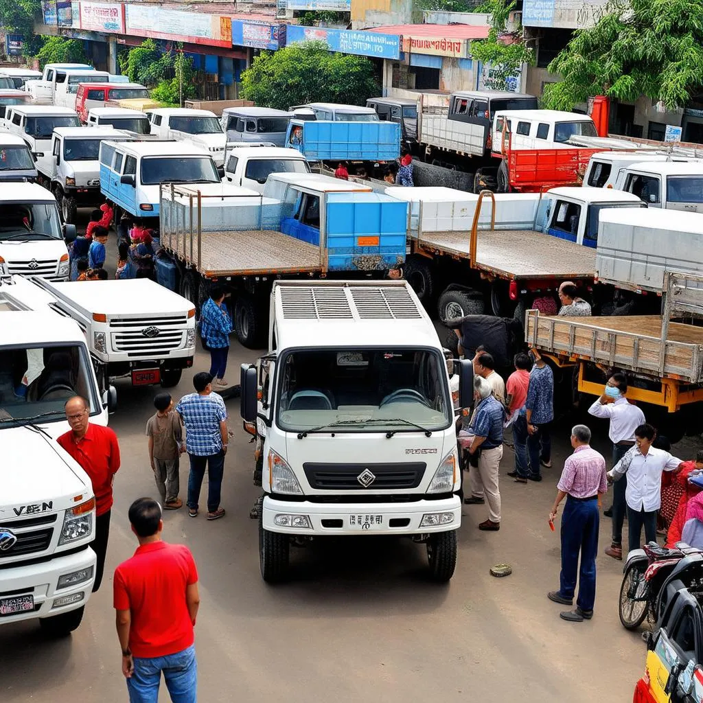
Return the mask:
[(444, 359), (430, 349), (290, 352), (278, 396), (278, 425), (289, 432), (418, 432), (452, 421)]

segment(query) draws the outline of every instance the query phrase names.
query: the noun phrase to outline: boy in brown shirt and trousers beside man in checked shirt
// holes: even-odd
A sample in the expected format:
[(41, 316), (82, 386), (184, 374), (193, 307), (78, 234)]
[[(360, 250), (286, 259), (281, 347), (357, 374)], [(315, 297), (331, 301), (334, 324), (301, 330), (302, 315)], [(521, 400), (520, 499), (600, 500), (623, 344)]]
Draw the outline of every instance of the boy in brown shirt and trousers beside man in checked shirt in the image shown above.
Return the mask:
[(174, 401), (169, 393), (157, 394), (154, 398), (156, 413), (146, 423), (149, 461), (165, 510), (178, 510), (183, 505), (183, 501), (178, 497), (183, 426), (180, 415), (173, 411), (173, 406)]

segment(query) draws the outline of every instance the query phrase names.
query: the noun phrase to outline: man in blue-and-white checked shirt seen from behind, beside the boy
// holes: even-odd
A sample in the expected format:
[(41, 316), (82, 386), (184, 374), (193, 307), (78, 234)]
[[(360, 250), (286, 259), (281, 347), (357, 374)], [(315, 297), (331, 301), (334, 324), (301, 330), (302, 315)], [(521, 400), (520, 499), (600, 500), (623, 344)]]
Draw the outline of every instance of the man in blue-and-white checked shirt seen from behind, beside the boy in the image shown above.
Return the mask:
[(198, 515), (200, 487), (207, 466), (207, 519), (224, 517), (220, 507), (224, 456), (227, 453), (227, 408), (212, 392), (212, 375), (201, 371), (193, 376), (195, 393), (183, 396), (176, 406), (186, 425), (186, 451), (191, 459), (188, 477), (188, 515)]

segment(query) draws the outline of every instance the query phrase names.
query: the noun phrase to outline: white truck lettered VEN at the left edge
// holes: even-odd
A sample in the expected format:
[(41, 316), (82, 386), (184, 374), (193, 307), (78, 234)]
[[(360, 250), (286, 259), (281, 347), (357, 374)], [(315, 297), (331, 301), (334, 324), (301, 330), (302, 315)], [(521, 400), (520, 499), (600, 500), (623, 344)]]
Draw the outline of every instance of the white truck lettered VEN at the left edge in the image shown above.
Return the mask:
[(67, 398), (83, 396), (106, 425), (115, 394), (101, 394), (78, 325), (37, 294), (0, 275), (0, 625), (39, 619), (61, 636), (93, 588), (96, 513), (91, 480), (55, 440), (69, 430)]

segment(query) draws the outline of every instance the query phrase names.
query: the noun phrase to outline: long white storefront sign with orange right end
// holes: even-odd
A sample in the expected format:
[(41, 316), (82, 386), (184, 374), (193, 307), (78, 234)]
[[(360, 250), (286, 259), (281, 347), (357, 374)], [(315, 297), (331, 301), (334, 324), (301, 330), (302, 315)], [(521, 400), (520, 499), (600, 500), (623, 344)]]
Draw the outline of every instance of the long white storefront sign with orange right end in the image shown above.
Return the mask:
[(157, 5), (125, 5), (127, 34), (191, 44), (232, 46), (232, 19), (221, 15), (169, 10)]

